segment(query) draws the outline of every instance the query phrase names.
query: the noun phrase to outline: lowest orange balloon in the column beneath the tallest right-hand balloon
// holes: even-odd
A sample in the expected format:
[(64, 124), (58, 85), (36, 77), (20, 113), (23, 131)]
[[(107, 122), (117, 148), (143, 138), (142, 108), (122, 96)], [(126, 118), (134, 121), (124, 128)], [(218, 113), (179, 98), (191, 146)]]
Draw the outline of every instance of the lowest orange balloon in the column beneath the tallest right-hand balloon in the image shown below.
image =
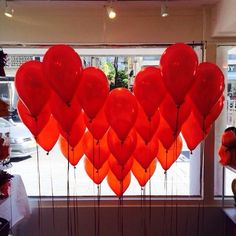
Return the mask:
[(171, 147), (166, 150), (161, 142), (159, 143), (159, 151), (157, 154), (157, 159), (159, 160), (162, 168), (167, 171), (171, 165), (178, 159), (182, 151), (182, 139), (180, 136), (174, 141)]

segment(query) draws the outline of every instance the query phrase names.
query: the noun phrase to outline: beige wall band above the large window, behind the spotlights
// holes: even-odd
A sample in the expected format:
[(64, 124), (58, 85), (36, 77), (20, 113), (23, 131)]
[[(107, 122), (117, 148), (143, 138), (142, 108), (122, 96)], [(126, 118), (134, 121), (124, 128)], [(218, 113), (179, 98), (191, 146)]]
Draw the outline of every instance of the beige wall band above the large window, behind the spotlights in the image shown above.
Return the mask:
[(1, 44), (109, 44), (201, 41), (203, 8), (170, 7), (166, 18), (160, 6), (120, 4), (117, 18), (109, 20), (102, 4), (44, 1), (9, 2), (14, 17), (7, 18), (1, 4)]

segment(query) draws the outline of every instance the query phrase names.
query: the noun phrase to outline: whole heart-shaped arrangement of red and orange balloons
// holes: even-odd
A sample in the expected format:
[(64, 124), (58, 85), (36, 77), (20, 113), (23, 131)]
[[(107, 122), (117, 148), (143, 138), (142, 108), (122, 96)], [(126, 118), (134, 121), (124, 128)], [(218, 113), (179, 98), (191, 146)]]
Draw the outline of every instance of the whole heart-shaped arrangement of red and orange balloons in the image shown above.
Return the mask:
[(181, 153), (180, 133), (195, 149), (224, 102), (221, 70), (198, 64), (195, 51), (183, 43), (165, 50), (160, 67), (142, 69), (133, 93), (109, 91), (104, 72), (82, 68), (79, 55), (67, 45), (49, 48), (43, 62), (21, 65), (15, 87), (19, 115), (38, 144), (50, 151), (60, 136), (68, 161), (75, 166), (85, 155), (89, 177), (100, 184), (108, 176), (119, 197), (131, 171), (144, 186), (157, 160), (165, 171), (171, 167)]

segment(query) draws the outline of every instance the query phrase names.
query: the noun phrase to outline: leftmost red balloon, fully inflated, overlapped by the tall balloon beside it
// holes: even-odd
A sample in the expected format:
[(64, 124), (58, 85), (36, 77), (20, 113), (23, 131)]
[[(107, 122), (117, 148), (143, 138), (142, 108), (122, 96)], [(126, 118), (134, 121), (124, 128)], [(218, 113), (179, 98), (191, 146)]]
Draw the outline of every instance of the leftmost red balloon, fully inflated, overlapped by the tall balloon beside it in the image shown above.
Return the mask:
[(50, 88), (44, 78), (43, 66), (39, 61), (28, 61), (16, 72), (17, 93), (33, 117), (37, 117), (48, 103)]

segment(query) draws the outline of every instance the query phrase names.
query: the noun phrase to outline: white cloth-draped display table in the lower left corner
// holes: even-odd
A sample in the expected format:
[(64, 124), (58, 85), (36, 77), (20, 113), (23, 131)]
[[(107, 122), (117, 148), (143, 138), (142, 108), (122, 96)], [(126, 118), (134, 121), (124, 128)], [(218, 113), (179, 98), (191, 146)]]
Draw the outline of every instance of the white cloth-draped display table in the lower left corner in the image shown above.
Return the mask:
[(10, 226), (30, 215), (28, 197), (19, 175), (14, 175), (9, 188), (9, 197), (0, 200), (0, 217), (8, 220)]

